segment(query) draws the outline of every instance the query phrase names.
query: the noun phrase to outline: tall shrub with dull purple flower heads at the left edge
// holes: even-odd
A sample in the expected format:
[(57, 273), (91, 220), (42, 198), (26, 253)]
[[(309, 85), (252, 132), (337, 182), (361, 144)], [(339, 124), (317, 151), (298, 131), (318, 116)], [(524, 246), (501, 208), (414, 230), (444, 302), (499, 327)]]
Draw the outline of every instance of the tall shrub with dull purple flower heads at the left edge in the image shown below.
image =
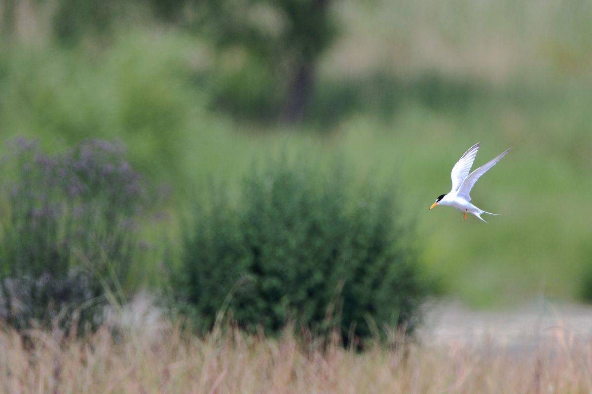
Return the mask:
[(149, 202), (124, 147), (92, 140), (46, 155), (21, 138), (11, 151), (0, 213), (0, 320), (17, 328), (69, 324), (73, 311), (104, 301), (105, 292), (123, 296)]

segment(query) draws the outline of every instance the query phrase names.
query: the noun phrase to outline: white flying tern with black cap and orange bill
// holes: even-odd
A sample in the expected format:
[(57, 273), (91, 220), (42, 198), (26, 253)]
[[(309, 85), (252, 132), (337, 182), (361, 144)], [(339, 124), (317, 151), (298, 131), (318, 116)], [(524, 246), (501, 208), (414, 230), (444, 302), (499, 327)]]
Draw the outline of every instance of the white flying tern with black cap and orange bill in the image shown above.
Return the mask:
[(468, 151), (466, 151), (465, 154), (461, 156), (459, 161), (456, 162), (454, 167), (452, 167), (452, 172), (450, 174), (452, 178), (452, 189), (448, 193), (442, 194), (436, 198), (436, 202), (432, 204), (430, 209), (437, 205), (448, 205), (461, 211), (465, 220), (466, 213), (468, 212), (474, 214), (479, 219), (483, 220), (483, 222), (485, 222), (485, 220), (481, 217), (482, 213), (497, 215), (497, 213), (484, 211), (471, 204), (471, 196), (469, 193), (471, 193), (473, 185), (475, 182), (477, 182), (481, 175), (485, 174), (487, 170), (496, 165), (496, 163), (500, 161), (500, 159), (503, 158), (507, 152), (510, 151), (510, 149), (506, 149), (506, 151), (501, 152), (499, 155), (469, 174), (469, 171), (471, 171), (471, 167), (473, 165), (473, 161), (475, 161), (475, 156), (477, 156), (479, 145), (481, 145), (481, 142), (471, 146), (471, 148), (469, 148)]

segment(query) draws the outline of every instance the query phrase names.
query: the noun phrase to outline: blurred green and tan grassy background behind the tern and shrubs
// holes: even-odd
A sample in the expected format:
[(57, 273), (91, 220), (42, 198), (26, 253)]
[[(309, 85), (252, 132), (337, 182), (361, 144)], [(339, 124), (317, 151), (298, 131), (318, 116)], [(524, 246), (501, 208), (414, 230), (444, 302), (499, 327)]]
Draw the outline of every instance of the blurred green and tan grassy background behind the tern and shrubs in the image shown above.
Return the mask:
[[(379, 0), (336, 2), (339, 40), (323, 57), (313, 118), (285, 128), (208, 107), (207, 45), (142, 24), (112, 43), (62, 48), (4, 45), (0, 133), (48, 149), (88, 137), (121, 138), (140, 170), (172, 186), (181, 212), (210, 177), (238, 181), (281, 151), (344, 157), (362, 180), (398, 184), (416, 223), (421, 264), (437, 290), (473, 306), (543, 295), (577, 299), (592, 286), (588, 2)], [(206, 78), (207, 79), (207, 78)], [(512, 148), (472, 193), (490, 224), (447, 207), (452, 165), (482, 142), (475, 165)], [(321, 160), (322, 161), (322, 160)], [(155, 272), (160, 258), (147, 262)], [(174, 262), (172, 262), (174, 263)]]

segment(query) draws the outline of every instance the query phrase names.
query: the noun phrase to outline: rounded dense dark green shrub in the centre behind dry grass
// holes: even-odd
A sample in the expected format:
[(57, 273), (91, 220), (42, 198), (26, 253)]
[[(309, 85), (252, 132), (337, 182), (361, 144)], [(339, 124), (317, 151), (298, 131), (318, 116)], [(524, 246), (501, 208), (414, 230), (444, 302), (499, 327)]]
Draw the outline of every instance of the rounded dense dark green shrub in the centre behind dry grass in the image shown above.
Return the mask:
[(197, 204), (179, 289), (202, 330), (227, 307), (249, 331), (292, 321), (315, 333), (337, 327), (349, 341), (413, 330), (423, 286), (393, 188), (355, 187), (339, 165), (319, 167), (269, 161), (235, 201), (214, 187)]

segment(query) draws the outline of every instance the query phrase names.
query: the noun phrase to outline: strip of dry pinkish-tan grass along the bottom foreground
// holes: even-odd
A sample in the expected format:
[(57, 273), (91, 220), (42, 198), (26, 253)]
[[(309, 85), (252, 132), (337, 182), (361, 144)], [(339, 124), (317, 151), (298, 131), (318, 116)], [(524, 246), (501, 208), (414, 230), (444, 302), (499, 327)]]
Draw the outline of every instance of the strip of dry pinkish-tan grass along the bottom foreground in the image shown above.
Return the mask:
[(196, 338), (177, 328), (107, 328), (79, 339), (0, 331), (2, 393), (574, 393), (590, 392), (592, 342), (561, 331), (528, 350), (449, 343), (359, 353), (304, 350), (238, 331)]

